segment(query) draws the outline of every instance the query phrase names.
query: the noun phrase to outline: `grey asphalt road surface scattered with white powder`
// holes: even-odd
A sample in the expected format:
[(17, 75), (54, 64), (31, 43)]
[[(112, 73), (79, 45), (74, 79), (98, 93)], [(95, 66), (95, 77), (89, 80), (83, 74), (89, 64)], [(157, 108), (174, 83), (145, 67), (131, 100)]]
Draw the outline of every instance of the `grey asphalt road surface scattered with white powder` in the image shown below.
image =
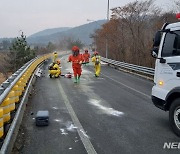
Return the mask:
[[(72, 72), (67, 56), (62, 72)], [(12, 153), (22, 154), (164, 154), (165, 142), (180, 142), (169, 126), (168, 112), (151, 102), (153, 82), (105, 64), (99, 78), (93, 65), (83, 66), (79, 84), (38, 78)], [(38, 110), (48, 110), (50, 125), (35, 126)]]

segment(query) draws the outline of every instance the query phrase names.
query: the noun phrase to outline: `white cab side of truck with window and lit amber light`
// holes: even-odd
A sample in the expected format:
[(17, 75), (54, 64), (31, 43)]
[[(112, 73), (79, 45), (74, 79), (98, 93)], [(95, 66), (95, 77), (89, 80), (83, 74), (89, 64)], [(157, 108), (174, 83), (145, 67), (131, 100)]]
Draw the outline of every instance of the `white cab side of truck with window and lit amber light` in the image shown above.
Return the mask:
[[(165, 34), (158, 57), (155, 82), (168, 93), (173, 88), (180, 87), (180, 31)], [(165, 98), (165, 93), (161, 98)]]

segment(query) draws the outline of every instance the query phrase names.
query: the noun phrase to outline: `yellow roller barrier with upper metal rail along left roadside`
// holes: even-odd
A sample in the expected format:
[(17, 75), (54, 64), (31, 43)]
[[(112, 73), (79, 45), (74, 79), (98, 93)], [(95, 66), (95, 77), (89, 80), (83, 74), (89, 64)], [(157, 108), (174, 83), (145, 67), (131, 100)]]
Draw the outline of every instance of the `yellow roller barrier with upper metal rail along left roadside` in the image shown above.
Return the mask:
[(50, 56), (51, 54), (37, 56), (0, 85), (0, 139), (2, 141), (7, 133), (5, 127), (13, 120), (16, 107), (23, 99), (31, 76), (39, 64)]

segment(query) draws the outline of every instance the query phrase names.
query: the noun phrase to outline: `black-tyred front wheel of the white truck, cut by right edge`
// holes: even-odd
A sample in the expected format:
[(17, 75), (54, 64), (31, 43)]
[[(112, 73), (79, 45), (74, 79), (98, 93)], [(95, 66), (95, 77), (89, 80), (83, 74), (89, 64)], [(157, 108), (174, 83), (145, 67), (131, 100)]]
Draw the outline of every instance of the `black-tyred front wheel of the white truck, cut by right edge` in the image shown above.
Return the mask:
[(180, 98), (175, 99), (169, 109), (169, 122), (174, 133), (180, 136)]

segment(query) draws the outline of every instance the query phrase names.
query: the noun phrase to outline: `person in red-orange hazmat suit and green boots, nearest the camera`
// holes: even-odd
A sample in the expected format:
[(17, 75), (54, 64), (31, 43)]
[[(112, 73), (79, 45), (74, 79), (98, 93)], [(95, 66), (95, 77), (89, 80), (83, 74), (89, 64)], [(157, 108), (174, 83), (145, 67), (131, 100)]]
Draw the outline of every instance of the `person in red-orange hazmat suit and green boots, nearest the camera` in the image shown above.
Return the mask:
[(79, 53), (79, 48), (77, 46), (72, 47), (72, 55), (69, 56), (69, 62), (72, 62), (72, 68), (74, 72), (74, 82), (78, 83), (81, 77), (81, 65), (84, 61), (83, 55)]

